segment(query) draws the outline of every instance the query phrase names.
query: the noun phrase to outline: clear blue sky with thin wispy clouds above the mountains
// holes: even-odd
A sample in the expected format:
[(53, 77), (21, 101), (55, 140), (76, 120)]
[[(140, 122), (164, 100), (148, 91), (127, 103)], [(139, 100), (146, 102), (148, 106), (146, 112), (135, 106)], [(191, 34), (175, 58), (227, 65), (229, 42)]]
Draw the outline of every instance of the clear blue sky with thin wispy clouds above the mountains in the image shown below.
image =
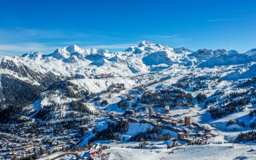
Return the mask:
[(256, 48), (256, 1), (1, 1), (0, 55), (72, 44), (116, 52), (142, 40), (246, 52)]

